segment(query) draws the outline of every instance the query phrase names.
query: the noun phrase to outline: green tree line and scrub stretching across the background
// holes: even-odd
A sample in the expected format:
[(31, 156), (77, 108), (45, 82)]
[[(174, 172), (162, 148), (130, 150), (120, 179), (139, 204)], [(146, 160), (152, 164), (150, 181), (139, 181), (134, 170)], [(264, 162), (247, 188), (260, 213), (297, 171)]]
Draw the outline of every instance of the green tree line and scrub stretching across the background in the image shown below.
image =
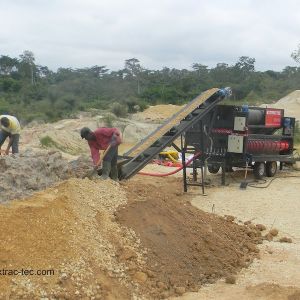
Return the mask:
[[(291, 56), (299, 62), (299, 49)], [(0, 114), (16, 115), (23, 122), (55, 121), (91, 108), (125, 116), (148, 105), (184, 104), (212, 87), (230, 86), (231, 102), (255, 105), (276, 101), (299, 85), (300, 67), (256, 71), (255, 58), (248, 56), (214, 68), (193, 63), (190, 69), (150, 70), (130, 58), (118, 71), (95, 65), (56, 72), (37, 64), (28, 50), (18, 58), (0, 56)]]

